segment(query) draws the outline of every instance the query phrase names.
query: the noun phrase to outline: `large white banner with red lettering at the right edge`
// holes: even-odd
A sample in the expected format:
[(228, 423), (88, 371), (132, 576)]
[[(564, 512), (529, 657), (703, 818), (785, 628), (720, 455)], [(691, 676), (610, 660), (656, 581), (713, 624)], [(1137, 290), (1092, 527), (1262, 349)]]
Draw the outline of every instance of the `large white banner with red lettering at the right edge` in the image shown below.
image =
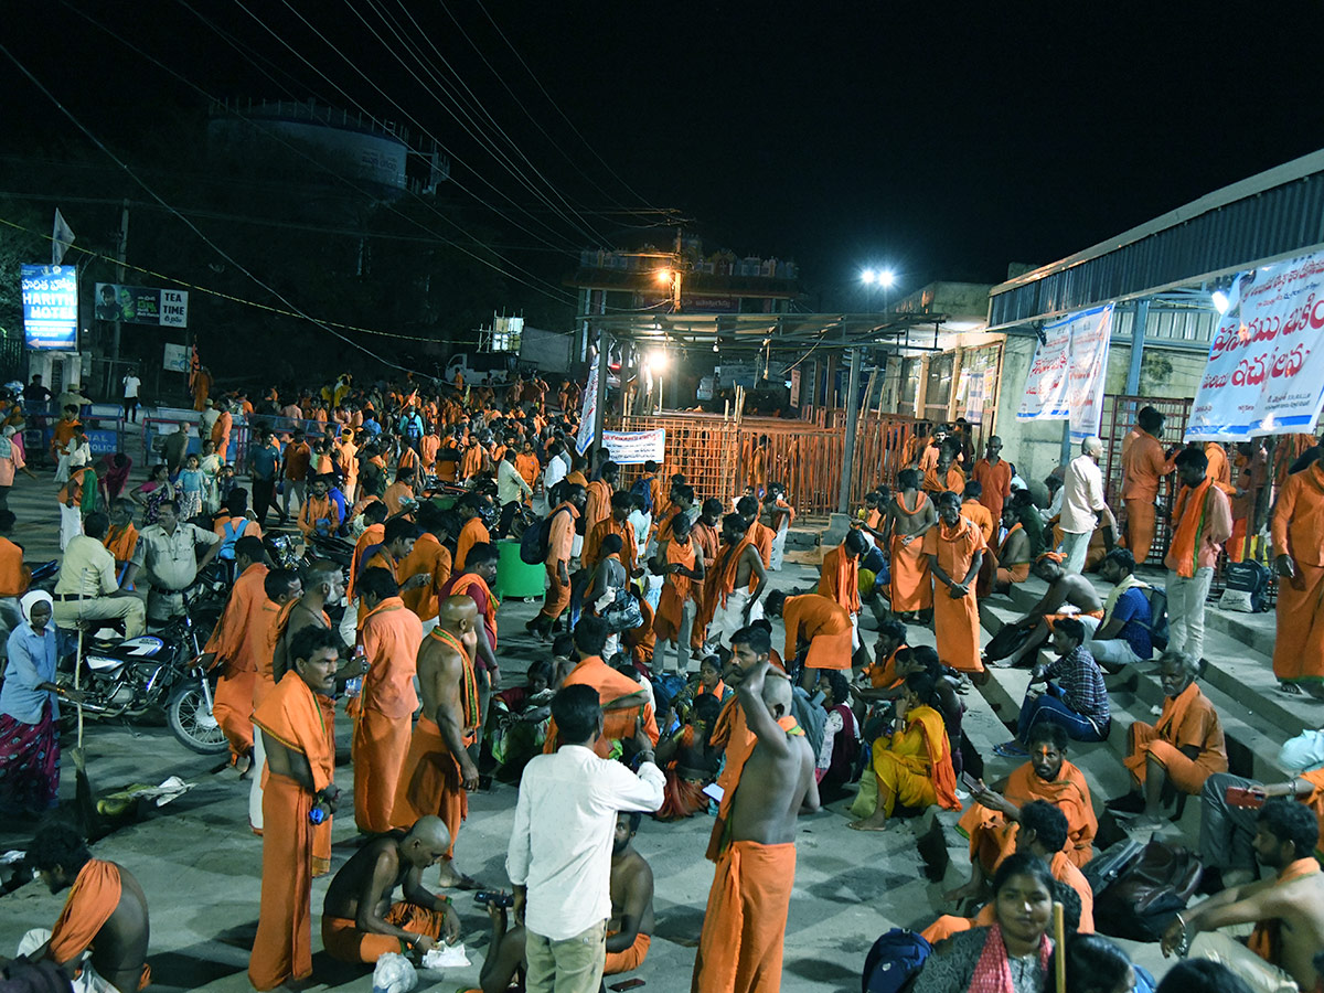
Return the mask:
[(1324, 402), (1324, 252), (1242, 273), (1227, 295), (1186, 440), (1313, 434)]

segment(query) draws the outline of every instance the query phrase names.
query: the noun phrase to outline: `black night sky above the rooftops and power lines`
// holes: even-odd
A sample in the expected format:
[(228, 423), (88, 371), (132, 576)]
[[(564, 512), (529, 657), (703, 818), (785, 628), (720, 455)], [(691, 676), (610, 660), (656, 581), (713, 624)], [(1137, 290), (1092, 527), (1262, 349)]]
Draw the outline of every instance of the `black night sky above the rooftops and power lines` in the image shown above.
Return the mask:
[[(557, 279), (573, 249), (642, 240), (638, 216), (600, 211), (651, 207), (692, 218), (710, 250), (797, 260), (826, 306), (849, 306), (870, 263), (902, 290), (998, 282), (1324, 134), (1317, 3), (13, 5), (3, 44), (135, 166), (151, 164), (135, 131), (205, 102), (78, 11), (207, 93), (357, 102), (432, 132), (455, 179), (516, 218), (503, 253)], [(417, 48), (392, 53), (373, 28)], [(539, 205), (429, 73), (462, 79), (538, 167), (526, 177), (588, 213)], [(3, 56), (0, 86), (9, 155), (85, 143)], [(465, 217), (491, 220), (478, 203)]]

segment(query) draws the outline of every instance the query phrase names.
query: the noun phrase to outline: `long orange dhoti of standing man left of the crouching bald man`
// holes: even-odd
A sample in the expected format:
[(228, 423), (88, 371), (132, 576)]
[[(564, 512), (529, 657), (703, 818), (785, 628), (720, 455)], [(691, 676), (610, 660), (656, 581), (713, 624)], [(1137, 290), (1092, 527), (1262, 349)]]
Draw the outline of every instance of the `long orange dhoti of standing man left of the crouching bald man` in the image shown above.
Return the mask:
[(286, 776), (262, 790), (262, 910), (249, 982), (275, 989), (312, 974), (312, 794)]

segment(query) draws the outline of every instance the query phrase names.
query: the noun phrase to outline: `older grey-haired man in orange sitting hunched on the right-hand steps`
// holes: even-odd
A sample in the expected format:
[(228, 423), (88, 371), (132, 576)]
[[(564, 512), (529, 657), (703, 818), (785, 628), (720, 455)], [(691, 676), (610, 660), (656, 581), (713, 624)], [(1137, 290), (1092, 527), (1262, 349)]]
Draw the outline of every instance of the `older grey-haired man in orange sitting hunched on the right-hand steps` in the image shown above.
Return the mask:
[[(1125, 767), (1132, 793), (1108, 801), (1112, 810), (1144, 813), (1140, 828), (1160, 825), (1164, 786), (1200, 796), (1205, 780), (1227, 772), (1227, 745), (1218, 711), (1196, 685), (1194, 658), (1166, 653), (1158, 663), (1164, 703), (1158, 724), (1137, 720), (1127, 732)], [(1143, 792), (1141, 792), (1143, 790)]]

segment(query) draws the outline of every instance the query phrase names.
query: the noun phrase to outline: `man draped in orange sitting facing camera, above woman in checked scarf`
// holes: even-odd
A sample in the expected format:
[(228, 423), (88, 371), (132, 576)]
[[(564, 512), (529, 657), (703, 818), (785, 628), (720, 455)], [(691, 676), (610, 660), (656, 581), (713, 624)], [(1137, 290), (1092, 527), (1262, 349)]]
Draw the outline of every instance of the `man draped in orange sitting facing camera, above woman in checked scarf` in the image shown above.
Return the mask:
[(1067, 736), (1057, 724), (1041, 722), (1030, 730), (1030, 760), (1016, 768), (1001, 792), (985, 789), (960, 820), (959, 830), (970, 839), (970, 882), (959, 895), (976, 896), (993, 878), (1002, 859), (1016, 851), (1019, 810), (1033, 800), (1053, 804), (1067, 818), (1066, 855), (1078, 867), (1094, 858), (1094, 816), (1084, 773), (1067, 761)]

